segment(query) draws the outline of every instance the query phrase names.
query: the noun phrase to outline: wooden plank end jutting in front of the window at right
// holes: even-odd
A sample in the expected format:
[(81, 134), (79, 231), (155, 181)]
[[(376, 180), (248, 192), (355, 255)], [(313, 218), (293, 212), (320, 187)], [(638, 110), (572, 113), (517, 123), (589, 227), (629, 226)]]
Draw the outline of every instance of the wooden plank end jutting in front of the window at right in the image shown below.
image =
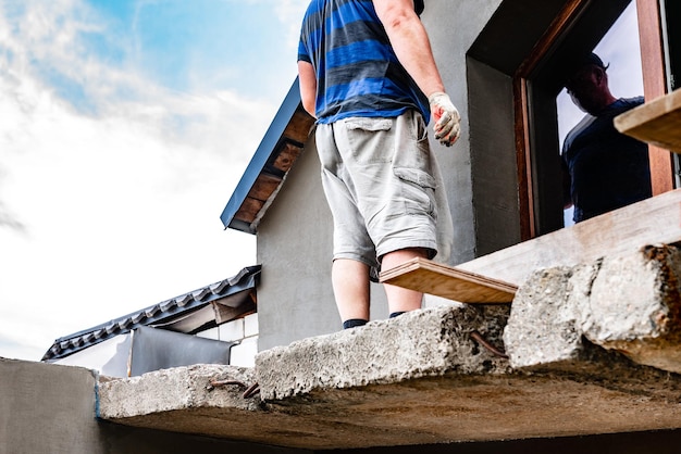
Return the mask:
[(681, 89), (618, 115), (615, 127), (644, 142), (681, 153)]

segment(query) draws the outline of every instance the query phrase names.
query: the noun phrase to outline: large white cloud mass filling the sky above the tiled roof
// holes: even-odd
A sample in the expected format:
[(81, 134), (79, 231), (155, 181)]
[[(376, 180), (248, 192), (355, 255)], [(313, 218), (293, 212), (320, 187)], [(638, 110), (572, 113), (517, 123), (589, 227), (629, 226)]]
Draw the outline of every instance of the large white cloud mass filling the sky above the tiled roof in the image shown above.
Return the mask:
[(27, 1), (20, 20), (0, 0), (0, 356), (255, 264), (255, 238), (219, 216), (281, 100), (172, 92), (109, 66), (81, 46), (99, 27), (83, 7)]

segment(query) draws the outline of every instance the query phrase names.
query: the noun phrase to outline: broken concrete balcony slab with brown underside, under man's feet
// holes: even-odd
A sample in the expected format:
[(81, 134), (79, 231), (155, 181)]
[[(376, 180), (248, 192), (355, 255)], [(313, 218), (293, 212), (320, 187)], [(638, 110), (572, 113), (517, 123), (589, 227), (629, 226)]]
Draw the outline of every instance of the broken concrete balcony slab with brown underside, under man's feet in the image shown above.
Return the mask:
[[(571, 367), (513, 369), (505, 306), (445, 306), (262, 352), (100, 383), (100, 417), (309, 450), (681, 427), (681, 379), (590, 342)], [(211, 386), (238, 380), (244, 386)], [(260, 394), (244, 399), (256, 380)], [(244, 402), (246, 401), (246, 402)]]

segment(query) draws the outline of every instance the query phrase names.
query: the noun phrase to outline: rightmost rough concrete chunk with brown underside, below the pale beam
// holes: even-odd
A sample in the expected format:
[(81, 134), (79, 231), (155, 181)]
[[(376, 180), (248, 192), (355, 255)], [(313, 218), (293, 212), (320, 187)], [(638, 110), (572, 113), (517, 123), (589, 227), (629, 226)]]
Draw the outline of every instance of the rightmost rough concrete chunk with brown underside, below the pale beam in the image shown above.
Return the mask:
[[(680, 274), (681, 251), (673, 244), (648, 244), (606, 257), (583, 318), (589, 325), (585, 338), (639, 364), (681, 373)], [(617, 289), (616, 298), (611, 289)], [(614, 318), (619, 329), (607, 323)]]

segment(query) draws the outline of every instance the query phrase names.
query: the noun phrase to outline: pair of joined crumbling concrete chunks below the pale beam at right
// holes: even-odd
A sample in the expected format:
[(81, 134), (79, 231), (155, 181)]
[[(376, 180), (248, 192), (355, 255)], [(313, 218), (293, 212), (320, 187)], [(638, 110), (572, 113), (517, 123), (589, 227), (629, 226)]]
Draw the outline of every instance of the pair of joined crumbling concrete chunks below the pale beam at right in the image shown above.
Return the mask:
[(583, 356), (584, 340), (681, 373), (681, 251), (645, 247), (534, 273), (513, 300), (504, 342), (515, 368)]

